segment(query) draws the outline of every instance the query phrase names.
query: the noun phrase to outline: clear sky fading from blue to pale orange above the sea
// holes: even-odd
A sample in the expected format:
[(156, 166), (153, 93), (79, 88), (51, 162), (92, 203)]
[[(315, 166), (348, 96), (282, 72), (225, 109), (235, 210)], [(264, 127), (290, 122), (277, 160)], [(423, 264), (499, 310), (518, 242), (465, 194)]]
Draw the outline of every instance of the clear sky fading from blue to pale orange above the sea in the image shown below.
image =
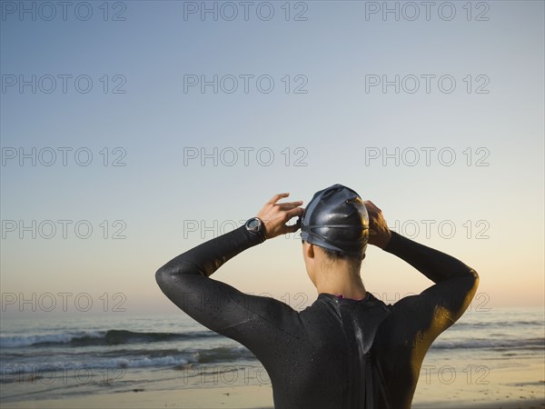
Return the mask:
[[(2, 314), (170, 314), (174, 256), (340, 183), (544, 305), (544, 3), (0, 2)], [(214, 279), (294, 307), (298, 234)], [(385, 302), (431, 281), (369, 248)]]

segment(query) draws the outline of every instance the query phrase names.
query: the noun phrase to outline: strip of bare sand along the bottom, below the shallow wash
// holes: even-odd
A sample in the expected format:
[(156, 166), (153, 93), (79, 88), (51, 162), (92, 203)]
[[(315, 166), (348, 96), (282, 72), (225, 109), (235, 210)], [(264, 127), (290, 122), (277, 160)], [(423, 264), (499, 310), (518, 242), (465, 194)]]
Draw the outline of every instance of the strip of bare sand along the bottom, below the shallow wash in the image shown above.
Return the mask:
[[(455, 367), (455, 365), (452, 365)], [(414, 395), (414, 409), (543, 409), (545, 380), (543, 364), (532, 362), (490, 370), (477, 382), (467, 377), (438, 383), (435, 373), (421, 373)], [(445, 378), (443, 377), (443, 380)], [(88, 394), (54, 400), (21, 400), (3, 408), (272, 408), (270, 384), (218, 385), (180, 388), (175, 380), (154, 384), (153, 389), (118, 387), (104, 394)]]

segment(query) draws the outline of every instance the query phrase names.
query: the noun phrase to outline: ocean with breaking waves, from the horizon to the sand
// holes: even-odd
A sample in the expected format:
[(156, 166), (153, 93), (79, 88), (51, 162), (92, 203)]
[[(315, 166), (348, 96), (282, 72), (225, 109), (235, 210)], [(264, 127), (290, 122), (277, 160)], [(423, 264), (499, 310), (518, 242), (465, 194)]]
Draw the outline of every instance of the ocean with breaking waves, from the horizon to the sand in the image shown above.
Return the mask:
[[(489, 380), (495, 369), (544, 362), (543, 308), (474, 309), (431, 345), (417, 391), (432, 377), (451, 382), (453, 374), (464, 384), (493, 387)], [(3, 404), (104, 392), (270, 384), (248, 349), (182, 312), (4, 316), (0, 371)]]

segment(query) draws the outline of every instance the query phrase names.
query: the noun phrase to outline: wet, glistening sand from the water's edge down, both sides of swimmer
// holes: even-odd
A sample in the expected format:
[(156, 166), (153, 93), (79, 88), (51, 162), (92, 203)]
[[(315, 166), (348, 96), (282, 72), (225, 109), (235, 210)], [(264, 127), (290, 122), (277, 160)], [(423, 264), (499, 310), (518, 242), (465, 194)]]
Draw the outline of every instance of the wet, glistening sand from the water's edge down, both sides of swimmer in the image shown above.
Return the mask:
[[(453, 368), (463, 365), (449, 362), (450, 365), (442, 367), (428, 363), (435, 369), (421, 372), (412, 400), (413, 409), (545, 409), (544, 368), (536, 360), (503, 367), (493, 365), (484, 373), (458, 371), (458, 376), (454, 376)], [(441, 373), (441, 368), (450, 368), (450, 371)], [(84, 384), (54, 388), (56, 396), (49, 397), (39, 394), (51, 392), (52, 384), (35, 391), (19, 385), (23, 386), (20, 391), (11, 391), (20, 392), (15, 400), (13, 394), (12, 399), (9, 395), (0, 395), (0, 406), (14, 409), (273, 408), (272, 385), (256, 377), (254, 372), (253, 376), (243, 372), (243, 378), (233, 371), (222, 376), (207, 372), (208, 376), (203, 377), (203, 374), (196, 371), (153, 379), (154, 374), (147, 372), (127, 375), (124, 382), (118, 380), (111, 388), (94, 389), (94, 392), (85, 391)], [(3, 384), (5, 386), (9, 387)]]

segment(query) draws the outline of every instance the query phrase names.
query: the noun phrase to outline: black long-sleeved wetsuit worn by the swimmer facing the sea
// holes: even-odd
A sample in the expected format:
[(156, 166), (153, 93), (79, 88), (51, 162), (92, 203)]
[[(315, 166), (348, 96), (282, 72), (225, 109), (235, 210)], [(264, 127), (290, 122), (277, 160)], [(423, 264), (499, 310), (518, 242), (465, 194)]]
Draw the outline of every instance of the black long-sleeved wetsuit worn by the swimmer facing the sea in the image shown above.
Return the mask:
[(271, 378), (277, 408), (409, 408), (424, 354), (471, 302), (476, 272), (391, 232), (384, 250), (435, 285), (389, 305), (369, 292), (361, 301), (322, 293), (297, 312), (209, 278), (234, 255), (262, 242), (242, 226), (163, 265), (157, 283), (193, 319), (255, 354)]

